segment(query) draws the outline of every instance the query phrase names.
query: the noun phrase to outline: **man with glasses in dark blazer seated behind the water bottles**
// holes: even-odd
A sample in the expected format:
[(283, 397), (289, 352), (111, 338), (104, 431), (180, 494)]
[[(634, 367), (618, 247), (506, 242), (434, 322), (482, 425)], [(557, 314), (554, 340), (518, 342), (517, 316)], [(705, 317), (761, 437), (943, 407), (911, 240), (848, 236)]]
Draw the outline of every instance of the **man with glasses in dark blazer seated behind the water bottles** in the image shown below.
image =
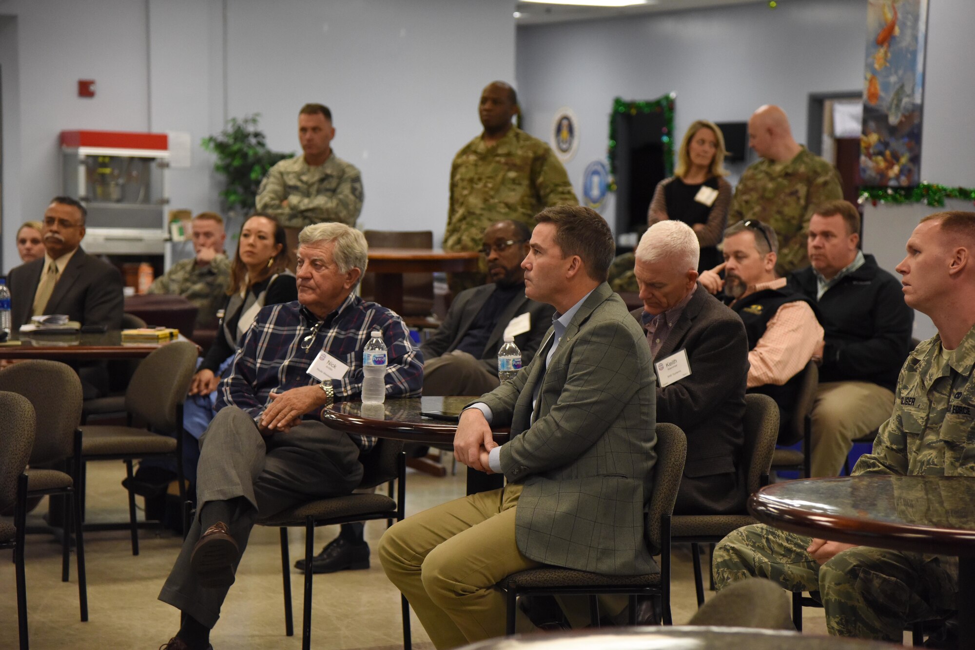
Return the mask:
[(420, 345), (424, 395), (483, 395), (497, 388), (497, 351), (508, 333), (522, 363), (531, 363), (555, 309), (525, 295), (522, 260), (530, 236), (521, 222), (487, 227), (481, 252), (493, 283), (457, 294), (444, 323)]

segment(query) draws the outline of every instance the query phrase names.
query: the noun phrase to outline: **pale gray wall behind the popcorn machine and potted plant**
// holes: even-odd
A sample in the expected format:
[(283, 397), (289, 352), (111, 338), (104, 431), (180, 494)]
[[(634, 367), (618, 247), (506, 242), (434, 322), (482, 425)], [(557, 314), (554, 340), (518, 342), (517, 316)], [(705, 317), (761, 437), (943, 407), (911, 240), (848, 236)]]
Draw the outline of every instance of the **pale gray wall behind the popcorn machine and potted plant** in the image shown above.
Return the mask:
[[(507, 0), (8, 0), (0, 4), (3, 270), (20, 222), (59, 192), (61, 129), (188, 131), (172, 207), (218, 207), (197, 148), (226, 117), (262, 115), (299, 149), (297, 110), (334, 112), (335, 152), (363, 171), (361, 227), (443, 235), (453, 154), (480, 131), (477, 101), (514, 78)], [(77, 80), (95, 79), (94, 99)]]

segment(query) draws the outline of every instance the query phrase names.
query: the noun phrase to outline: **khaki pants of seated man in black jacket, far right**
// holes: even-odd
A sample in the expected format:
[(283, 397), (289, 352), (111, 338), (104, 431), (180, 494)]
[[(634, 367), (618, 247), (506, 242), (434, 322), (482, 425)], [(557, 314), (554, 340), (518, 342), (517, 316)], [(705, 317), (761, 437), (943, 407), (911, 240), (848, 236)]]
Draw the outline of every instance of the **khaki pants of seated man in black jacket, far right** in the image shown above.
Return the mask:
[(812, 407), (812, 476), (839, 476), (853, 439), (883, 424), (894, 394), (870, 381), (825, 381)]

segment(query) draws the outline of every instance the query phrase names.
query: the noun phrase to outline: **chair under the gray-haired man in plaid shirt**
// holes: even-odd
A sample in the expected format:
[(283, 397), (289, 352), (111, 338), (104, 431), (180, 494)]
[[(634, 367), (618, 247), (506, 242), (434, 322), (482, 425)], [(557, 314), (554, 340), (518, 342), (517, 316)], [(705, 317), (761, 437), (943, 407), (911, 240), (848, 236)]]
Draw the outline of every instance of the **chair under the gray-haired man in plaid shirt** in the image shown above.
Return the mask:
[[(281, 532), (281, 567), (285, 591), (285, 634), (292, 636), (292, 579), (291, 559), (288, 554), (288, 527), (303, 526), (305, 529), (305, 570), (304, 570), (304, 609), (302, 619), (301, 647), (311, 647), (311, 584), (312, 558), (315, 555), (315, 528), (320, 525), (351, 524), (386, 520), (401, 522), (405, 517), (406, 501), (406, 457), (403, 443), (396, 440), (380, 439), (376, 446), (363, 457), (362, 483), (360, 489), (375, 488), (390, 481), (397, 481), (397, 496), (378, 493), (359, 493), (335, 496), (308, 501), (289, 508), (257, 524), (278, 526)], [(403, 642), (409, 650), (409, 603), (401, 596), (403, 609)]]

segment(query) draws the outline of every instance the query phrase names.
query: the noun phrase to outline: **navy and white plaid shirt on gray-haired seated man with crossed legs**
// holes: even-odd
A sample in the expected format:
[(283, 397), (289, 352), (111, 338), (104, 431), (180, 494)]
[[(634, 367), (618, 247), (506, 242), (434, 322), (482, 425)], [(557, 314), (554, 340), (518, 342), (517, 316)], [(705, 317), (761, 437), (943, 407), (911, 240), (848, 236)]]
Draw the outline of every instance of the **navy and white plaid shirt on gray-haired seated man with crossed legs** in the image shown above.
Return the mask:
[[(403, 319), (386, 307), (367, 303), (354, 294), (332, 311), (319, 327), (315, 342), (306, 351), (302, 340), (312, 334), (318, 318), (300, 303), (262, 308), (234, 356), (230, 374), (220, 381), (216, 410), (235, 406), (252, 417), (270, 404), (271, 391), (315, 385), (307, 374), (322, 349), (349, 367), (342, 379), (332, 379), (335, 401), (359, 399), (363, 388), (363, 348), (373, 330), (382, 332), (389, 350), (386, 366), (386, 397), (418, 397), (423, 386), (423, 353), (409, 338)], [(321, 419), (309, 413), (304, 419)], [(350, 434), (362, 451), (370, 451), (376, 439)]]

